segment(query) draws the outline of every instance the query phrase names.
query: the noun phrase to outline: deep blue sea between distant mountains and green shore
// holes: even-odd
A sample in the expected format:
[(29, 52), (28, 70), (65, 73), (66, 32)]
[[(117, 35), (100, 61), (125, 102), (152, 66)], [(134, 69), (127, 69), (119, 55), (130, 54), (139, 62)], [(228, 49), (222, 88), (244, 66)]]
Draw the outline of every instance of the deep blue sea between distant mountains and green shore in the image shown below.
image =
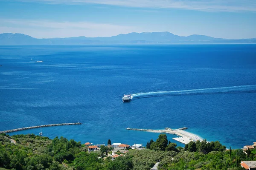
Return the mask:
[(125, 128), (188, 127), (227, 147), (256, 142), (256, 44), (0, 46), (0, 65), (0, 130), (83, 123), (10, 135), (145, 145), (159, 133)]

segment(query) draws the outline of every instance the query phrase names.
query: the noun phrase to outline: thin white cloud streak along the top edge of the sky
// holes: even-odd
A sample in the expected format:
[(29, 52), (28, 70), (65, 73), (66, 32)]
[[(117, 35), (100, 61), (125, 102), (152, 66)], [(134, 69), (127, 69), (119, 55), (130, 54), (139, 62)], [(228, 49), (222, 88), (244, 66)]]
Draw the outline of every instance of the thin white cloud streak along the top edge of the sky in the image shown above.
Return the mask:
[(199, 11), (256, 11), (256, 0), (14, 0), (53, 4), (104, 4), (138, 8), (180, 8)]

